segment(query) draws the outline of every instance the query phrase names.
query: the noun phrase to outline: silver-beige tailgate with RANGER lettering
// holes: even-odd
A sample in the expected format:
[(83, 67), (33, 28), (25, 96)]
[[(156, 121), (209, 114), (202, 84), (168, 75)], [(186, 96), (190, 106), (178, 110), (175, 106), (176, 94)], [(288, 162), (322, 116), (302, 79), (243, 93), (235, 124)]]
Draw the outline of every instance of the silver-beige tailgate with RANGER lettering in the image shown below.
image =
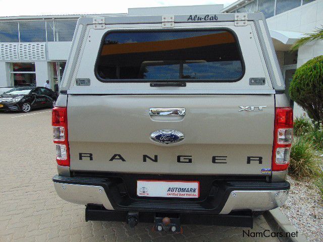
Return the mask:
[[(158, 119), (149, 108), (185, 108), (186, 114)], [(273, 94), (69, 95), (71, 170), (268, 175), (274, 118)], [(154, 143), (150, 134), (163, 129), (185, 139)]]

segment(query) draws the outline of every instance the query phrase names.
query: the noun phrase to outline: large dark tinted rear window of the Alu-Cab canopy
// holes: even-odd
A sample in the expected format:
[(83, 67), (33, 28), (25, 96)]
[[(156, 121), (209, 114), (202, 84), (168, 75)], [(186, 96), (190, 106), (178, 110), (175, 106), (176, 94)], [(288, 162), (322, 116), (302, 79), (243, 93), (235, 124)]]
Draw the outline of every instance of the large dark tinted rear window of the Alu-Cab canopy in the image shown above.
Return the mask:
[(228, 31), (118, 32), (104, 36), (96, 72), (103, 80), (235, 81), (243, 65)]

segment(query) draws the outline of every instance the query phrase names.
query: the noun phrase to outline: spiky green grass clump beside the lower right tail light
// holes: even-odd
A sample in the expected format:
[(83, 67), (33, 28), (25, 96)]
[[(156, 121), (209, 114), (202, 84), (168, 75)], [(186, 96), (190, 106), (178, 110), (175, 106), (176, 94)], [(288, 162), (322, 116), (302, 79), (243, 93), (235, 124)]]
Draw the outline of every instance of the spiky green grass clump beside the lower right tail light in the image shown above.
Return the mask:
[(318, 166), (313, 144), (304, 136), (294, 139), (291, 149), (289, 173), (295, 178), (316, 176)]

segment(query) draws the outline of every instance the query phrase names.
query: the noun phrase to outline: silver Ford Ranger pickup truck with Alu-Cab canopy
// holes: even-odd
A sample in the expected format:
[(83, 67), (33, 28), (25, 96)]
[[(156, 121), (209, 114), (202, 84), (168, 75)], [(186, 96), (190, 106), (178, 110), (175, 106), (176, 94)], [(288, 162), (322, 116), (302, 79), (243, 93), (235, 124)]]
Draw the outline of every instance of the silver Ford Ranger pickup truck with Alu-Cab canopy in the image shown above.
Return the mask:
[(52, 111), (86, 220), (252, 227), (282, 206), (293, 110), (261, 13), (80, 18)]

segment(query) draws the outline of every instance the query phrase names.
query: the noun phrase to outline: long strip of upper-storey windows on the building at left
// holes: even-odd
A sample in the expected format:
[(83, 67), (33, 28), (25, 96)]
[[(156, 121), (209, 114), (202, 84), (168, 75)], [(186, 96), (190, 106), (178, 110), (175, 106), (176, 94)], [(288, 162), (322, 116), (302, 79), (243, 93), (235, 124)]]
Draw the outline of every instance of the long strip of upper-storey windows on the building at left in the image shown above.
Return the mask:
[(0, 42), (72, 41), (77, 20), (0, 21)]

